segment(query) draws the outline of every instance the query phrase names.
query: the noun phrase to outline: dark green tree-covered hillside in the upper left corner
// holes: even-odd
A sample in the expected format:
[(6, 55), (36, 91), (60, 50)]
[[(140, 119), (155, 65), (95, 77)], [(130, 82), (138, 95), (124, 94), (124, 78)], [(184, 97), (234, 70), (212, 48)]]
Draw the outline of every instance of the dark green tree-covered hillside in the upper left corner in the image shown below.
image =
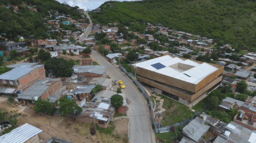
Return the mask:
[[(14, 12), (14, 8), (6, 8), (7, 5), (18, 6), (18, 11)], [(37, 12), (30, 10), (29, 7), (36, 8)], [(54, 20), (53, 17), (49, 17), (50, 14), (55, 14), (55, 10), (59, 14), (70, 15), (72, 19), (79, 19), (81, 14), (78, 11), (79, 7), (70, 7), (67, 4), (60, 3), (55, 0), (1, 0), (0, 1), (0, 34), (2, 37), (9, 40), (18, 41), (19, 37), (37, 39), (46, 39), (49, 36), (46, 34), (48, 28), (47, 18)], [(52, 12), (48, 12), (51, 11)], [(54, 13), (53, 13), (54, 12)], [(64, 27), (61, 27), (64, 28)], [(68, 28), (72, 30), (72, 27)]]

